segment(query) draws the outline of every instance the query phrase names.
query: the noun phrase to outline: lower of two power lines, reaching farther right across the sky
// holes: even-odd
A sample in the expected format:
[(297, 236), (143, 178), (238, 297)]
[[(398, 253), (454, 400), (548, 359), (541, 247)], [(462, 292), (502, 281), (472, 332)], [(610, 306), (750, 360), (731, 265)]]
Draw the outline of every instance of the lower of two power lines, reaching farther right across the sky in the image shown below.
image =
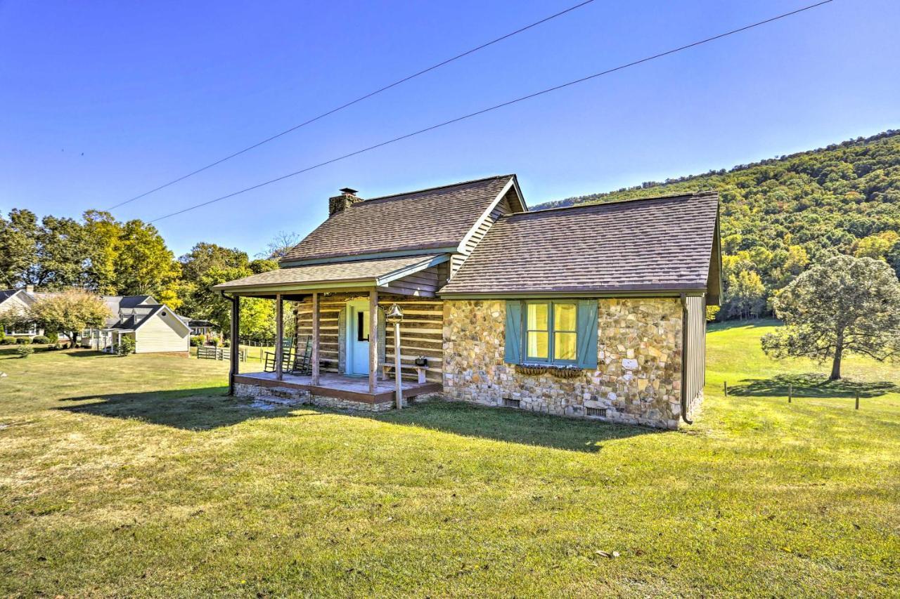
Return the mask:
[(478, 116), (479, 114), (484, 114), (485, 112), (495, 111), (495, 110), (497, 110), (497, 109), (499, 109), (499, 108), (503, 108), (503, 107), (509, 106), (509, 105), (511, 105), (511, 104), (523, 102), (523, 101), (529, 100), (529, 99), (531, 99), (531, 98), (536, 98), (536, 97), (539, 96), (539, 95), (549, 94), (550, 92), (555, 92), (555, 91), (557, 91), (557, 90), (563, 89), (564, 87), (569, 87), (570, 85), (576, 85), (576, 84), (584, 83), (585, 81), (590, 81), (590, 79), (595, 79), (595, 78), (597, 78), (597, 77), (599, 77), (599, 76), (604, 76), (604, 75), (608, 75), (608, 74), (610, 74), (610, 73), (615, 73), (616, 71), (621, 71), (621, 70), (623, 70), (623, 69), (625, 69), (625, 68), (628, 68), (628, 67), (635, 67), (636, 65), (643, 64), (644, 62), (649, 62), (650, 60), (654, 60), (654, 59), (656, 59), (656, 58), (662, 58), (662, 57), (664, 57), (664, 56), (669, 56), (670, 54), (674, 54), (674, 53), (680, 52), (680, 51), (682, 51), (682, 50), (686, 50), (686, 49), (690, 49), (690, 48), (695, 48), (696, 46), (700, 46), (700, 45), (702, 45), (702, 44), (706, 44), (706, 43), (708, 43), (708, 42), (710, 42), (710, 41), (721, 40), (722, 38), (728, 37), (729, 35), (734, 35), (735, 33), (740, 33), (740, 32), (742, 32), (742, 31), (751, 30), (751, 29), (753, 29), (753, 28), (755, 28), (755, 27), (760, 27), (761, 25), (765, 25), (766, 23), (779, 21), (780, 19), (784, 19), (784, 18), (789, 17), (789, 16), (792, 16), (792, 15), (794, 15), (794, 14), (803, 13), (803, 12), (805, 12), (805, 11), (811, 10), (811, 9), (816, 8), (816, 7), (818, 7), (818, 6), (822, 6), (823, 4), (829, 4), (829, 3), (833, 2), (833, 1), (834, 1), (834, 0), (822, 0), (822, 2), (817, 2), (817, 3), (815, 3), (815, 4), (809, 4), (809, 5), (807, 5), (807, 6), (804, 6), (803, 8), (798, 8), (797, 10), (791, 11), (791, 12), (789, 12), (789, 13), (782, 13), (782, 14), (779, 14), (779, 15), (777, 15), (777, 16), (770, 17), (769, 19), (766, 19), (766, 20), (764, 20), (764, 21), (754, 22), (754, 23), (752, 23), (752, 24), (750, 24), (750, 25), (745, 25), (745, 26), (740, 27), (740, 28), (738, 28), (738, 29), (733, 29), (733, 30), (731, 30), (731, 31), (725, 31), (725, 33), (719, 33), (718, 35), (714, 35), (714, 36), (712, 36), (712, 37), (710, 37), (710, 38), (706, 38), (705, 40), (694, 41), (694, 42), (691, 42), (691, 43), (686, 44), (686, 45), (684, 45), (684, 46), (680, 46), (679, 48), (674, 48), (674, 49), (666, 50), (666, 51), (664, 51), (664, 52), (660, 52), (659, 54), (654, 54), (653, 56), (648, 56), (648, 57), (645, 57), (645, 58), (640, 58), (640, 59), (638, 59), (638, 60), (634, 60), (634, 61), (629, 62), (629, 63), (626, 63), (626, 64), (624, 64), (624, 65), (619, 65), (618, 67), (608, 68), (608, 69), (605, 70), (605, 71), (600, 71), (599, 73), (594, 73), (593, 75), (584, 76), (584, 77), (581, 77), (580, 79), (575, 79), (575, 80), (570, 81), (570, 82), (568, 82), (568, 83), (564, 83), (564, 84), (561, 84), (561, 85), (554, 85), (554, 87), (548, 87), (547, 89), (541, 90), (540, 92), (535, 92), (534, 94), (523, 95), (523, 96), (520, 96), (520, 97), (518, 97), (518, 98), (516, 98), (516, 99), (514, 99), (514, 100), (509, 100), (509, 101), (504, 102), (504, 103), (495, 104), (495, 105), (493, 105), (493, 106), (491, 106), (491, 107), (489, 107), (489, 108), (483, 108), (483, 109), (480, 110), (480, 111), (470, 112), (470, 113), (468, 113), (468, 114), (464, 114), (464, 115), (461, 116), (461, 117), (456, 117), (455, 119), (451, 119), (450, 121), (440, 122), (440, 123), (437, 123), (437, 125), (431, 125), (430, 127), (426, 127), (425, 129), (420, 129), (420, 130), (418, 130), (418, 131), (413, 131), (413, 132), (411, 132), (411, 133), (407, 133), (406, 135), (401, 135), (400, 137), (397, 137), (397, 138), (388, 139), (387, 141), (383, 141), (383, 142), (381, 142), (381, 143), (375, 144), (374, 146), (369, 146), (368, 148), (358, 149), (358, 150), (356, 150), (355, 152), (350, 152), (349, 154), (345, 154), (345, 155), (343, 155), (343, 156), (338, 156), (338, 157), (335, 157), (335, 158), (331, 158), (331, 159), (329, 159), (329, 160), (326, 160), (325, 162), (320, 162), (318, 165), (307, 166), (306, 168), (302, 168), (302, 169), (299, 170), (299, 171), (294, 171), (293, 173), (283, 174), (283, 175), (281, 175), (280, 177), (275, 177), (275, 179), (269, 179), (268, 181), (265, 181), (265, 182), (263, 182), (263, 183), (257, 183), (256, 185), (251, 185), (250, 187), (245, 187), (244, 189), (239, 190), (238, 192), (231, 192), (231, 193), (229, 193), (229, 194), (227, 194), (227, 195), (222, 195), (222, 196), (220, 196), (220, 197), (218, 197), (218, 198), (213, 198), (212, 200), (203, 201), (203, 202), (201, 202), (201, 203), (199, 203), (199, 204), (194, 204), (193, 206), (189, 206), (189, 207), (184, 208), (184, 209), (182, 209), (182, 210), (176, 210), (175, 212), (171, 212), (171, 213), (166, 214), (166, 215), (164, 215), (164, 216), (158, 217), (157, 219), (150, 220), (149, 222), (153, 223), (153, 222), (157, 222), (157, 221), (162, 220), (162, 219), (168, 219), (169, 217), (174, 217), (174, 216), (177, 216), (177, 215), (179, 215), (179, 214), (184, 214), (184, 212), (187, 212), (187, 211), (190, 211), (190, 210), (196, 210), (196, 209), (198, 209), (198, 208), (202, 208), (203, 206), (208, 206), (208, 205), (210, 205), (210, 204), (212, 204), (212, 203), (215, 203), (215, 202), (217, 202), (217, 201), (228, 200), (229, 198), (233, 198), (234, 196), (240, 195), (241, 193), (252, 192), (252, 191), (255, 190), (255, 189), (259, 189), (260, 187), (265, 187), (266, 185), (270, 185), (270, 184), (272, 184), (272, 183), (277, 183), (277, 182), (279, 182), (279, 181), (284, 181), (284, 179), (288, 179), (288, 178), (293, 177), (293, 176), (296, 176), (296, 175), (298, 175), (298, 174), (307, 173), (307, 172), (309, 172), (309, 171), (311, 171), (311, 170), (313, 170), (313, 169), (320, 168), (321, 166), (330, 165), (330, 164), (332, 164), (332, 163), (334, 163), (334, 162), (338, 162), (338, 160), (344, 160), (345, 158), (349, 158), (349, 157), (351, 157), (351, 156), (356, 156), (356, 155), (358, 155), (358, 154), (363, 154), (364, 152), (368, 152), (368, 151), (370, 151), (370, 150), (374, 150), (375, 148), (382, 148), (383, 146), (387, 146), (387, 145), (392, 144), (392, 143), (395, 143), (395, 142), (397, 142), (397, 141), (401, 141), (402, 139), (409, 139), (409, 138), (411, 138), (411, 137), (414, 137), (414, 136), (416, 136), (416, 135), (420, 135), (420, 134), (422, 134), (422, 133), (426, 133), (426, 132), (428, 132), (428, 131), (436, 130), (436, 129), (439, 129), (439, 128), (441, 128), (441, 127), (446, 127), (446, 125), (450, 125), (450, 124), (453, 124), (453, 123), (455, 123), (455, 122), (464, 121), (464, 120), (466, 120), (466, 119), (471, 119), (472, 117)]

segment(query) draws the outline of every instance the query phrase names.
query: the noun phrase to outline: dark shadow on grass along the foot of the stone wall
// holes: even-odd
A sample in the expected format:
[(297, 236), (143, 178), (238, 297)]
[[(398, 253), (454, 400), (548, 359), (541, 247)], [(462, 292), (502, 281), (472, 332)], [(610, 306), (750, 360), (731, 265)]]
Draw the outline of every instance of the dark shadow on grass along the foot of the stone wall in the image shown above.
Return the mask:
[(588, 453), (600, 451), (603, 443), (608, 441), (641, 434), (670, 433), (643, 426), (613, 425), (506, 407), (473, 406), (440, 400), (414, 404), (401, 411), (365, 414), (365, 417), (441, 433)]

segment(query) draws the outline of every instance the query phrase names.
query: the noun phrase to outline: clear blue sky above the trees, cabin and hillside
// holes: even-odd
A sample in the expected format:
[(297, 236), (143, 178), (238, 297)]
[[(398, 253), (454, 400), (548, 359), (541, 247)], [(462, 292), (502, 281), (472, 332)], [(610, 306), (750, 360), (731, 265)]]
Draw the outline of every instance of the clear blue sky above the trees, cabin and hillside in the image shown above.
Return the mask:
[[(0, 0), (0, 210), (105, 209), (562, 10), (545, 2)], [(200, 201), (809, 2), (592, 4), (114, 210)], [(530, 204), (900, 127), (900, 3), (836, 0), (157, 223), (256, 254), (327, 198), (517, 173)]]

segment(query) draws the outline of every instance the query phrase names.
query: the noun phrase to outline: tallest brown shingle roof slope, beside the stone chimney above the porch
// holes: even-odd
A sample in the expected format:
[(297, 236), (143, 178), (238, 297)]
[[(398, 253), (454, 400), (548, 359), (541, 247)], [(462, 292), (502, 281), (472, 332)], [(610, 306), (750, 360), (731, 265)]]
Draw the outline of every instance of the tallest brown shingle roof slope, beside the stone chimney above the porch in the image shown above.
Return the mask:
[(281, 261), (459, 246), (514, 176), (361, 201), (329, 217)]

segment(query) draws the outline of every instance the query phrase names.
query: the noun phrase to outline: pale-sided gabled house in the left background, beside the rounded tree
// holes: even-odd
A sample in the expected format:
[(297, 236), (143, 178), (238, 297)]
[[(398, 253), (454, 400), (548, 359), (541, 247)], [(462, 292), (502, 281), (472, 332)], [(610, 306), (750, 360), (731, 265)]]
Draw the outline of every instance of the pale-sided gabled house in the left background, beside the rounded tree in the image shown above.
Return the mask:
[(82, 344), (112, 352), (131, 337), (135, 353), (188, 351), (191, 329), (185, 318), (152, 296), (103, 296), (103, 301), (113, 316), (103, 328), (84, 331)]

